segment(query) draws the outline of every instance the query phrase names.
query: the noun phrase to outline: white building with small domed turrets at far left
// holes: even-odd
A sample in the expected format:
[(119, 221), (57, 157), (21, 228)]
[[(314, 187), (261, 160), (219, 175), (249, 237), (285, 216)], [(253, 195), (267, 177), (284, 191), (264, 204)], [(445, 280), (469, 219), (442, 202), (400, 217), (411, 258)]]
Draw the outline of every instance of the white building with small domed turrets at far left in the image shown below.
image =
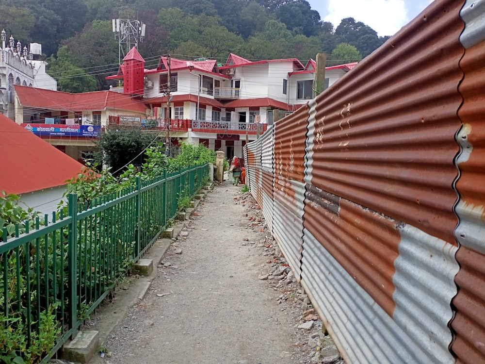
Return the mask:
[(34, 86), (49, 90), (57, 89), (57, 82), (46, 73), (47, 62), (34, 60), (42, 53), (40, 44), (31, 43), (22, 48), (20, 41), (15, 43), (10, 36), (7, 43), (5, 30), (1, 32), (0, 49), (0, 113), (15, 118), (14, 85)]

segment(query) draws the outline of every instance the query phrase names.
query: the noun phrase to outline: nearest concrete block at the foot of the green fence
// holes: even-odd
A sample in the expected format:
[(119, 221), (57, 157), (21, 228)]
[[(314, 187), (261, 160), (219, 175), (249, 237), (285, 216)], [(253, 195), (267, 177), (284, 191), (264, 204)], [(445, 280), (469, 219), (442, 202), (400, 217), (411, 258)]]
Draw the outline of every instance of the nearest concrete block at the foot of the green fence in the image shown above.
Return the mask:
[(98, 348), (97, 331), (79, 331), (73, 340), (64, 344), (62, 357), (69, 362), (89, 363)]

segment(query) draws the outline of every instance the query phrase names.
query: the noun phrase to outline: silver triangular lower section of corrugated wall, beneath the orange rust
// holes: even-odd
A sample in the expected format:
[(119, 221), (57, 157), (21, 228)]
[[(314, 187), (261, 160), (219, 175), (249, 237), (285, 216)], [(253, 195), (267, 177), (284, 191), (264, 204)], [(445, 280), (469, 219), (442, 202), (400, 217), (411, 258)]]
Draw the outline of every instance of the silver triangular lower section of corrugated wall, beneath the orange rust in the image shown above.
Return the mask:
[[(304, 230), (302, 285), (346, 363), (453, 363), (424, 350)], [(451, 357), (451, 355), (450, 355)]]

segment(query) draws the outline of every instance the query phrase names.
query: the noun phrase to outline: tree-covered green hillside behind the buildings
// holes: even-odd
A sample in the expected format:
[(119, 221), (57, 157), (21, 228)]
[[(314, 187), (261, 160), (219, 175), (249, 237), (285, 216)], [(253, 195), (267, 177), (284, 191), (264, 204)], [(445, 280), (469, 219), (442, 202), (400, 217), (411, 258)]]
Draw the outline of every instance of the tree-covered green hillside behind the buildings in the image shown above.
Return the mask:
[(305, 0), (3, 0), (2, 24), (22, 44), (37, 42), (58, 88), (85, 92), (109, 87), (118, 66), (111, 19), (146, 23), (140, 53), (146, 67), (170, 53), (251, 60), (327, 54), (329, 65), (359, 60), (388, 37), (353, 18), (323, 22)]

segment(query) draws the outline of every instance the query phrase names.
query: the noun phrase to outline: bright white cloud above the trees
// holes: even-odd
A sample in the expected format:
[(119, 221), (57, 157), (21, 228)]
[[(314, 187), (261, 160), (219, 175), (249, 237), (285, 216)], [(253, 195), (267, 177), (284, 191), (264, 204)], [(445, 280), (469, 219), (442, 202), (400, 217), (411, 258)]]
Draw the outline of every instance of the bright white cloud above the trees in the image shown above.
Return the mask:
[(328, 0), (324, 21), (334, 27), (346, 17), (369, 25), (379, 36), (393, 35), (408, 23), (404, 0)]

